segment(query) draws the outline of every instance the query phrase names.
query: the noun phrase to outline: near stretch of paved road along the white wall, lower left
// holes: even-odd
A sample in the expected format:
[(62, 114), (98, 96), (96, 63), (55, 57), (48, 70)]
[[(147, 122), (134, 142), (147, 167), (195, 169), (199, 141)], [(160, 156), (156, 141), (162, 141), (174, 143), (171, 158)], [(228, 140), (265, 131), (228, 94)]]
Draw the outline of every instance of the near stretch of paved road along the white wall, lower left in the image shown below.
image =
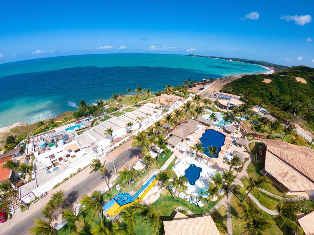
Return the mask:
[[(139, 153), (140, 150), (138, 148), (130, 148), (119, 154), (114, 160), (117, 169), (121, 169), (127, 164), (127, 161), (130, 162)], [(115, 177), (113, 163), (107, 160), (106, 169), (108, 170), (109, 177), (111, 175), (110, 182), (112, 182)], [(49, 192), (49, 195), (51, 196), (51, 194), (57, 190), (64, 190), (66, 200), (70, 204), (76, 204), (75, 201), (79, 201), (83, 195), (90, 194), (95, 190), (103, 190), (106, 187), (106, 183), (101, 178), (100, 172), (89, 174), (89, 171), (89, 168), (82, 170), (80, 173)], [(46, 205), (46, 202), (49, 201), (49, 195), (35, 204), (32, 204), (29, 211), (25, 211), (22, 214), (16, 213), (12, 220), (0, 224), (0, 233), (2, 235), (28, 234), (29, 229), (33, 226), (32, 220), (34, 218), (44, 219), (41, 215), (41, 211)]]

